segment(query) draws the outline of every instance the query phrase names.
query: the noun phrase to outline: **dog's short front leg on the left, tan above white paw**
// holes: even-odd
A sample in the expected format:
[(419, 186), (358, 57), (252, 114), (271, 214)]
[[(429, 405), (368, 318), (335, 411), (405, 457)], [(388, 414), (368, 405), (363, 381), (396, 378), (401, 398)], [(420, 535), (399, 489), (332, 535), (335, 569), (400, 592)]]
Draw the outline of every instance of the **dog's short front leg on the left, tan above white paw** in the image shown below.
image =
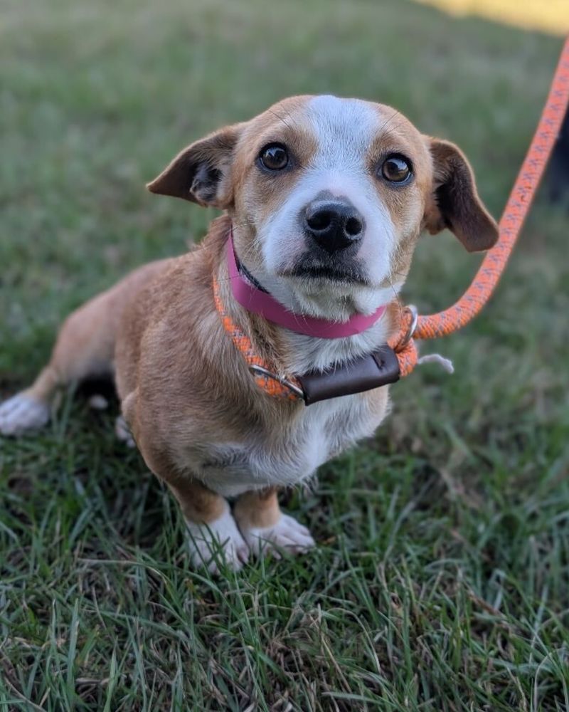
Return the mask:
[(195, 479), (180, 476), (169, 478), (167, 484), (186, 519), (192, 565), (218, 573), (223, 560), (230, 568), (240, 569), (249, 549), (227, 501)]

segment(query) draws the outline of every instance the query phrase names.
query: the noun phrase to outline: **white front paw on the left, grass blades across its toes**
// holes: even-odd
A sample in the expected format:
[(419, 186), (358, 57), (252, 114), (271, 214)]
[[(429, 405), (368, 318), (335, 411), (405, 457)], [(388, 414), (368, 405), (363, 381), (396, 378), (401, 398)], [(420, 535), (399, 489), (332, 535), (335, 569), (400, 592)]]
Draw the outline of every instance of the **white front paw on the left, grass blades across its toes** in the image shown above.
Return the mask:
[(238, 571), (248, 560), (249, 548), (243, 539), (230, 508), (208, 525), (186, 520), (188, 547), (193, 567), (205, 566), (209, 572), (218, 574), (225, 565)]

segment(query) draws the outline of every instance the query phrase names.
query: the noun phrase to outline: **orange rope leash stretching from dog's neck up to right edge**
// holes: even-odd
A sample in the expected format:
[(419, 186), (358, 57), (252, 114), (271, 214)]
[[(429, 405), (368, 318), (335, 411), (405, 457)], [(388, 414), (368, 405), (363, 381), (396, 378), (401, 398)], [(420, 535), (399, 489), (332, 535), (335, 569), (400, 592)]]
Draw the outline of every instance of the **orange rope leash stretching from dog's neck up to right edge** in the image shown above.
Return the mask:
[(403, 310), (400, 332), (389, 342), (397, 354), (401, 376), (409, 375), (417, 365), (415, 339), (434, 339), (452, 334), (469, 323), (494, 292), (535, 197), (568, 104), (569, 37), (561, 51), (546, 105), (526, 159), (521, 165), (501, 216), (498, 242), (484, 257), (472, 284), (452, 307), (437, 314), (420, 317), (416, 317), (409, 308)]

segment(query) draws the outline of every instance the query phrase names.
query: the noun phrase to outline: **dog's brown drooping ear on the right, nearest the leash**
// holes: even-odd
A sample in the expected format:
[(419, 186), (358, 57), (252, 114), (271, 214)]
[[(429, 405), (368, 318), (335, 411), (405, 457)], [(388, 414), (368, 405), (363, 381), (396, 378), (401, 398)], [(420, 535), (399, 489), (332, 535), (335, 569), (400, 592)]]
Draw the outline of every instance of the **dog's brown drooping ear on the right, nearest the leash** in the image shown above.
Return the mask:
[(467, 158), (453, 143), (428, 141), (433, 182), (425, 208), (426, 229), (431, 234), (450, 229), (469, 252), (491, 248), (498, 240), (498, 226), (478, 197)]

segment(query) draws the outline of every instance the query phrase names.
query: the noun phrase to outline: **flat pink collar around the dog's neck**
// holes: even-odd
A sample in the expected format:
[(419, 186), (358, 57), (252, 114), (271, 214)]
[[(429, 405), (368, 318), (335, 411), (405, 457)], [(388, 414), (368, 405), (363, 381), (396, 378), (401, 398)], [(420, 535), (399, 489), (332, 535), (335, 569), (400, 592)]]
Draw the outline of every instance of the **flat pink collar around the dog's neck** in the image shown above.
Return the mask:
[(278, 324), (297, 334), (314, 336), (320, 339), (340, 339), (346, 336), (353, 336), (361, 334), (373, 326), (385, 312), (385, 305), (383, 305), (368, 316), (356, 314), (349, 318), (348, 321), (335, 322), (289, 311), (268, 292), (253, 286), (241, 275), (235, 260), (233, 234), (231, 232), (227, 241), (227, 263), (233, 296), (238, 303), (248, 311), (260, 314), (267, 321)]

